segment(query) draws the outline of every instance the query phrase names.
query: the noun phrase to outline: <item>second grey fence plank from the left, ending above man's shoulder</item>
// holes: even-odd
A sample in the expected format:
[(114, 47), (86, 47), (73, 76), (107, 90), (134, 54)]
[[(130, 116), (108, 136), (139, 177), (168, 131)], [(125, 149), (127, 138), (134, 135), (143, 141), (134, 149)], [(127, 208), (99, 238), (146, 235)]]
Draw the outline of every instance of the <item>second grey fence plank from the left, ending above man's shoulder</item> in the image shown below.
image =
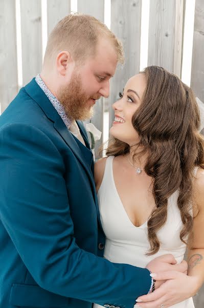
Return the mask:
[(20, 0), (22, 83), (27, 84), (42, 67), (41, 1)]

